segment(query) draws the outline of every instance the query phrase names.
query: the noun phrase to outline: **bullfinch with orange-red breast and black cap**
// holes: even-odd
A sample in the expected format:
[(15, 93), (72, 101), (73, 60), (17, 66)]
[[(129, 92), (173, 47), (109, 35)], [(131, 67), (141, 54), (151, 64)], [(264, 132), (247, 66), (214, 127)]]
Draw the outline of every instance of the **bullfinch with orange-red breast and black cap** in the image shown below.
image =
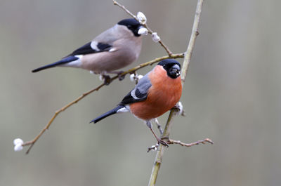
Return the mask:
[[(162, 60), (148, 74), (138, 81), (114, 109), (105, 112), (93, 123), (109, 117), (112, 114), (131, 112), (138, 119), (146, 122), (158, 143), (166, 145), (152, 130), (151, 121), (174, 107), (181, 98), (181, 65), (176, 60)], [(90, 123), (91, 123), (90, 122)]]

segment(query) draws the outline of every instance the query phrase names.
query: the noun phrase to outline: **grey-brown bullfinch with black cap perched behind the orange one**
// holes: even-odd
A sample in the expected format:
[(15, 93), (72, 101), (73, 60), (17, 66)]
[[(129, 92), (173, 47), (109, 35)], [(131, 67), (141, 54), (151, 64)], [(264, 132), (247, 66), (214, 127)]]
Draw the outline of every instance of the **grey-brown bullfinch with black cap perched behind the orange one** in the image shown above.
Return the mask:
[(96, 36), (93, 41), (81, 46), (62, 60), (45, 65), (32, 72), (51, 67), (77, 67), (95, 74), (120, 74), (117, 69), (130, 65), (141, 53), (141, 33), (143, 26), (135, 19), (121, 20), (110, 29)]

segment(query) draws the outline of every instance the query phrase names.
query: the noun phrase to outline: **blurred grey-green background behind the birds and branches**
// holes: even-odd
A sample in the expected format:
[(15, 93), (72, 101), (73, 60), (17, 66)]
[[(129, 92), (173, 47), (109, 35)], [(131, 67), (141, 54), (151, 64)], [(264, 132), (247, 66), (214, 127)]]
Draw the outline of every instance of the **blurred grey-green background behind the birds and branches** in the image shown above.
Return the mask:
[[(185, 51), (196, 0), (119, 2), (145, 13), (171, 51)], [(215, 143), (170, 145), (157, 185), (281, 185), (280, 6), (277, 0), (204, 2), (181, 98), (187, 116), (175, 119), (171, 138)], [(26, 147), (13, 152), (14, 138), (32, 140), (55, 110), (101, 83), (81, 69), (31, 70), (123, 18), (129, 15), (111, 0), (0, 1), (0, 185), (148, 185), (155, 158), (146, 152), (155, 144), (148, 128), (130, 114), (89, 124), (133, 88), (128, 77), (60, 114), (30, 154)], [(130, 67), (162, 55), (145, 36)]]

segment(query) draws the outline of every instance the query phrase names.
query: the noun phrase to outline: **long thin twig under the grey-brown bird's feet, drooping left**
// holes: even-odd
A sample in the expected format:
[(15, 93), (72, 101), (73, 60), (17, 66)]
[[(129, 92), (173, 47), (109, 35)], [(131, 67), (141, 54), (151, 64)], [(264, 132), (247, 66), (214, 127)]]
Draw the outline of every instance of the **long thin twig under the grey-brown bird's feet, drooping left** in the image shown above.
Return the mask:
[[(151, 61), (148, 61), (148, 62), (144, 62), (136, 67), (133, 67), (132, 69), (129, 69), (128, 71), (126, 72), (123, 72), (121, 74), (121, 76), (123, 75), (126, 75), (126, 74), (131, 74), (133, 72), (136, 72), (136, 70), (138, 69), (141, 69), (143, 67), (146, 67), (148, 65), (152, 65), (154, 64), (155, 62), (159, 62), (161, 60), (164, 60), (164, 59), (168, 59), (168, 58), (183, 58), (183, 53), (176, 53), (176, 54), (172, 54), (172, 55), (166, 55), (166, 56), (163, 56), (161, 58), (155, 58), (154, 60), (151, 60)], [(114, 81), (115, 79), (118, 78), (118, 75), (115, 76), (115, 77), (112, 77), (110, 79), (110, 81)], [(60, 112), (63, 112), (65, 111), (65, 109), (67, 109), (68, 107), (70, 107), (71, 105), (74, 105), (75, 103), (79, 102), (79, 100), (83, 99), (84, 97), (86, 97), (86, 95), (89, 95), (90, 93), (93, 93), (94, 91), (98, 91), (100, 88), (102, 88), (103, 86), (105, 86), (105, 84), (100, 84), (100, 86), (96, 87), (96, 88), (93, 88), (91, 91), (88, 91), (86, 93), (83, 93), (82, 95), (79, 96), (79, 98), (73, 100), (72, 102), (68, 103), (67, 105), (65, 105), (64, 107), (62, 107), (61, 109), (58, 109), (58, 111), (55, 112), (55, 114), (53, 115), (53, 117), (51, 118), (50, 121), (48, 121), (48, 124), (41, 130), (41, 132), (31, 141), (27, 141), (25, 143), (22, 144), (22, 146), (27, 146), (27, 145), (30, 145), (30, 147), (28, 148), (26, 154), (28, 154), (30, 152), (30, 150), (32, 149), (33, 145), (35, 142), (37, 142), (37, 140), (41, 137), (41, 135), (46, 131), (48, 130), (48, 128), (51, 126), (51, 124), (53, 123), (55, 117), (58, 116), (58, 114), (60, 114)]]

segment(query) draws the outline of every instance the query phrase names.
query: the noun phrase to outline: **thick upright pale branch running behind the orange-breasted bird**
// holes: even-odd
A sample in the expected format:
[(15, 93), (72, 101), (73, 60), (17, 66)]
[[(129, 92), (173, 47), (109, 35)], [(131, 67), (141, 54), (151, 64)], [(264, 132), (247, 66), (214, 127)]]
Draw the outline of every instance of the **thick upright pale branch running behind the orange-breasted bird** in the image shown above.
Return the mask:
[[(203, 1), (204, 0), (198, 0), (198, 2), (197, 2), (195, 18), (194, 18), (194, 22), (193, 22), (193, 26), (192, 26), (192, 33), (191, 33), (191, 36), (190, 36), (188, 48), (185, 51), (185, 58), (183, 60), (183, 68), (181, 70), (181, 80), (182, 80), (183, 84), (184, 84), (184, 81), (185, 81), (186, 74), (188, 72), (188, 65), (190, 63), (192, 51), (193, 51), (193, 48), (195, 46), (195, 39), (196, 39), (197, 35), (199, 34), (198, 26), (199, 26), (199, 22), (200, 22), (200, 15), (201, 15), (201, 12), (202, 12)], [(170, 132), (171, 132), (171, 126), (172, 126), (172, 120), (174, 119), (175, 115), (176, 115), (175, 109), (171, 109), (171, 112), (169, 114), (169, 118), (166, 122), (166, 126), (165, 126), (165, 129), (164, 129), (164, 133), (162, 135), (162, 138), (169, 139), (169, 135), (170, 135)], [(149, 186), (154, 186), (156, 184), (157, 175), (158, 175), (161, 163), (162, 163), (163, 154), (164, 154), (164, 146), (162, 144), (160, 144), (159, 150), (157, 151), (157, 154), (156, 154), (156, 157), (155, 157), (155, 162), (153, 164), (152, 173), (150, 175), (150, 181), (148, 183)]]

